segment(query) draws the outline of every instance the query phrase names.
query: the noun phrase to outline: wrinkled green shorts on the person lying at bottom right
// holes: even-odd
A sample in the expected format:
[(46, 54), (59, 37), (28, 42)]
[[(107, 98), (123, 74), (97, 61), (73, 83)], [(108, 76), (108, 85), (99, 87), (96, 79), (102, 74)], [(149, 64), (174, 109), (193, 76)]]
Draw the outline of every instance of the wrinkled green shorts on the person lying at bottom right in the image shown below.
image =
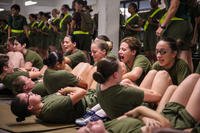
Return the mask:
[(162, 113), (176, 129), (193, 128), (197, 123), (183, 105), (175, 102), (167, 103)]

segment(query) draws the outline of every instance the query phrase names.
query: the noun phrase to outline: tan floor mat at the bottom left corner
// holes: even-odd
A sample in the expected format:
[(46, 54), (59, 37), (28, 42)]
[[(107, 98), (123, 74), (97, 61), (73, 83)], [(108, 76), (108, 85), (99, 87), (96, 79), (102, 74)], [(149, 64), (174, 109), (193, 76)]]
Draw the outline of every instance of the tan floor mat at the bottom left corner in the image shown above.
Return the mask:
[(26, 118), (23, 122), (16, 122), (16, 117), (10, 111), (10, 105), (6, 103), (0, 103), (0, 119), (0, 129), (9, 132), (76, 132), (74, 124), (39, 123), (34, 116)]

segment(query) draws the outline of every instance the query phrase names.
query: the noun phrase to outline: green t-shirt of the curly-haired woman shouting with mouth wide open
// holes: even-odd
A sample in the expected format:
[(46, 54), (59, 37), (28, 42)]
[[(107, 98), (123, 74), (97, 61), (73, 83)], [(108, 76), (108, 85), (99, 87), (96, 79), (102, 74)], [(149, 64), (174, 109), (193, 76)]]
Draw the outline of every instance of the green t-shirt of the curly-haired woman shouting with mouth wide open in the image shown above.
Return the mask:
[(135, 67), (140, 67), (143, 69), (142, 75), (140, 76), (140, 78), (136, 81), (137, 85), (140, 85), (140, 83), (142, 82), (142, 80), (144, 79), (145, 75), (148, 73), (148, 71), (151, 69), (151, 62), (149, 61), (149, 59), (147, 59), (144, 55), (137, 55), (135, 57), (135, 60), (133, 62), (133, 66), (132, 68), (127, 67), (127, 71), (130, 72), (132, 71)]

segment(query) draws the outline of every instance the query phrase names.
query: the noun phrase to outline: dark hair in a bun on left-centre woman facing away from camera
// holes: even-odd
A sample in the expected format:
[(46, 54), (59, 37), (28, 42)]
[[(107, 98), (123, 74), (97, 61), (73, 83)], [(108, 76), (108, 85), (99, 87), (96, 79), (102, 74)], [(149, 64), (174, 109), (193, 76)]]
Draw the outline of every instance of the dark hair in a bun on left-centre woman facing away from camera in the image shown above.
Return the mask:
[(43, 63), (48, 67), (54, 67), (57, 62), (62, 63), (63, 55), (59, 52), (51, 52), (46, 59), (43, 60)]

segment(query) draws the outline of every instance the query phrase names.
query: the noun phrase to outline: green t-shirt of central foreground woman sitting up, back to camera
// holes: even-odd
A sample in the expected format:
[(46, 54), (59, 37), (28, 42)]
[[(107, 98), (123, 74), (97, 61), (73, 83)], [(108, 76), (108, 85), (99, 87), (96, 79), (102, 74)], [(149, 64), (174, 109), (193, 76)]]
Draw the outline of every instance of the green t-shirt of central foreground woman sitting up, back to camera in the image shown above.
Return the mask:
[(144, 92), (133, 87), (114, 85), (101, 91), (97, 85), (97, 98), (102, 109), (111, 118), (115, 119), (127, 111), (142, 104)]

